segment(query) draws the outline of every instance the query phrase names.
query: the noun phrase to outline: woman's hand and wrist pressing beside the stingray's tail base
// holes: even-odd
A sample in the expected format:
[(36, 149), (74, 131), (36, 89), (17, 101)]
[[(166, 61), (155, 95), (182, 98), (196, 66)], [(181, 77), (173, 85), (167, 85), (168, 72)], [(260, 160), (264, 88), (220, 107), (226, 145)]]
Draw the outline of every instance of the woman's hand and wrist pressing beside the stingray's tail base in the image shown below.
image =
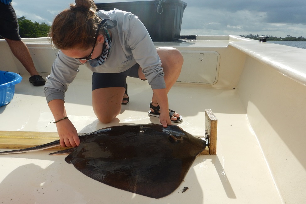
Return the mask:
[(62, 147), (77, 147), (80, 144), (78, 132), (69, 119), (57, 122), (56, 128)]

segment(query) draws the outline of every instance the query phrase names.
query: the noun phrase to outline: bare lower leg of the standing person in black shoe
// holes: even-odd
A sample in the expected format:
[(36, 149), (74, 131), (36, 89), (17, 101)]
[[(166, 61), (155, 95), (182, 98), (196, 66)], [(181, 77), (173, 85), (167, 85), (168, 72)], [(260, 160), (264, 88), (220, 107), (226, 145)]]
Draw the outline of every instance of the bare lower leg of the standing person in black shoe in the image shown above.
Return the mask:
[(24, 42), (22, 40), (10, 40), (7, 38), (4, 39), (8, 42), (8, 45), (11, 48), (14, 56), (21, 62), (21, 64), (30, 73), (30, 75), (39, 75), (35, 69), (30, 51)]

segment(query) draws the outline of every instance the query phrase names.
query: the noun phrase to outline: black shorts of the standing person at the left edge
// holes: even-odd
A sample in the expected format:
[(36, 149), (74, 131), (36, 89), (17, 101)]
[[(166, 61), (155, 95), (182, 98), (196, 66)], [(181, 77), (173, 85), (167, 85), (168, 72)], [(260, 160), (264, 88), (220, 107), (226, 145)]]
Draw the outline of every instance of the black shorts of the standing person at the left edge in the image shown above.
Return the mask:
[(18, 19), (12, 4), (0, 3), (0, 35), (10, 40), (21, 40)]

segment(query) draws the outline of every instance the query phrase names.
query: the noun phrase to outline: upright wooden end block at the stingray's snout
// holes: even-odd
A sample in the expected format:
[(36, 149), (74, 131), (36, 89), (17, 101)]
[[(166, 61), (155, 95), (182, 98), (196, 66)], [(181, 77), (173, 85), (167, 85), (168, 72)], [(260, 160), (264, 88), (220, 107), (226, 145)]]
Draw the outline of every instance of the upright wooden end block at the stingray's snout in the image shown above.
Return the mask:
[(210, 155), (216, 155), (217, 153), (217, 121), (212, 110), (205, 109), (205, 136), (208, 136)]

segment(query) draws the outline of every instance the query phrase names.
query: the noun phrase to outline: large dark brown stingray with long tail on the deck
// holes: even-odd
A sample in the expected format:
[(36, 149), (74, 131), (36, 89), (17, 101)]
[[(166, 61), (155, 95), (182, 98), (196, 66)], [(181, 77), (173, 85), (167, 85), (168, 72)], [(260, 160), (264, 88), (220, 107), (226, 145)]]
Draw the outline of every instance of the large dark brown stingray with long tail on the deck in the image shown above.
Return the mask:
[[(178, 126), (113, 126), (80, 136), (80, 145), (50, 154), (70, 153), (65, 161), (86, 176), (112, 187), (152, 198), (177, 189), (207, 141)], [(55, 147), (59, 140), (24, 153)]]

